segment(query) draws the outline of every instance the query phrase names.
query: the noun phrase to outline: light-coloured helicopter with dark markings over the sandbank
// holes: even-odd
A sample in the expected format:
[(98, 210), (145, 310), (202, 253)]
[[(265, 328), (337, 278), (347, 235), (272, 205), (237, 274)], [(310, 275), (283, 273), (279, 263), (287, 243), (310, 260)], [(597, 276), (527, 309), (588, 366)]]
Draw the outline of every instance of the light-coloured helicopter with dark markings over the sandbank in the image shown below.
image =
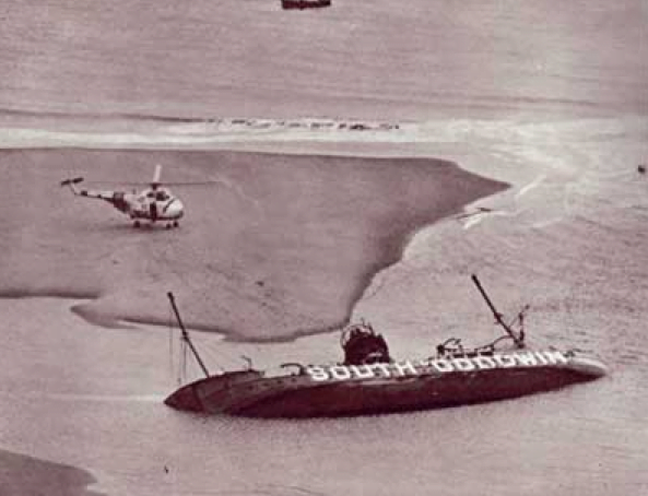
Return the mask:
[(140, 192), (78, 189), (76, 185), (83, 182), (83, 177), (62, 180), (61, 187), (68, 186), (76, 197), (107, 201), (119, 212), (130, 216), (133, 227), (140, 227), (143, 222), (149, 222), (150, 225), (160, 222), (166, 223), (166, 228), (170, 229), (179, 226), (185, 208), (178, 197), (168, 188), (162, 187), (161, 174), (162, 166), (157, 164), (149, 188)]

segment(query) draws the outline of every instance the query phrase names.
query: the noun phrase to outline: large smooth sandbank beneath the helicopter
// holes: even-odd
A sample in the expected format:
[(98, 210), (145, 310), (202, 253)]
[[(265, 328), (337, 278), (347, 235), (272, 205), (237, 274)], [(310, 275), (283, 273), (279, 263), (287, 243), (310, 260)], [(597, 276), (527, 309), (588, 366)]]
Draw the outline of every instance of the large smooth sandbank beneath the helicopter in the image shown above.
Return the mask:
[[(163, 181), (211, 181), (174, 189), (179, 229), (58, 186), (115, 189), (157, 163)], [(250, 341), (344, 324), (413, 233), (506, 188), (440, 160), (216, 151), (7, 150), (0, 175), (0, 295), (92, 297), (73, 310), (110, 327), (168, 323), (173, 291), (189, 327)]]

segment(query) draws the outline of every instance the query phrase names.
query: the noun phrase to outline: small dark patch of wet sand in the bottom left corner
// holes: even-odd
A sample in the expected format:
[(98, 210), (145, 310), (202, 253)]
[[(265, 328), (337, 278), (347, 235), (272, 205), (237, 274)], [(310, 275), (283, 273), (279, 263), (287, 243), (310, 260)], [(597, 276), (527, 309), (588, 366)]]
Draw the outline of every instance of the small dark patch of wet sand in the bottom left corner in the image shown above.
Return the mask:
[(0, 450), (2, 496), (99, 496), (87, 489), (95, 482), (84, 470)]

